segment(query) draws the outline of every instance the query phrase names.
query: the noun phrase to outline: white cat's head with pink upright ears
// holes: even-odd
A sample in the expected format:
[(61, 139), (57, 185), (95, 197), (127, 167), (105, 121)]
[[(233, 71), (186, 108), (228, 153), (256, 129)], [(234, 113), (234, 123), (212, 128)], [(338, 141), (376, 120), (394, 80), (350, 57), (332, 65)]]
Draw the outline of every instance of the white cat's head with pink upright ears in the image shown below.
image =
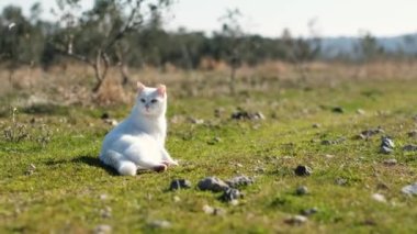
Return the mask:
[(160, 116), (167, 110), (167, 88), (158, 85), (156, 88), (137, 82), (136, 107), (145, 116)]

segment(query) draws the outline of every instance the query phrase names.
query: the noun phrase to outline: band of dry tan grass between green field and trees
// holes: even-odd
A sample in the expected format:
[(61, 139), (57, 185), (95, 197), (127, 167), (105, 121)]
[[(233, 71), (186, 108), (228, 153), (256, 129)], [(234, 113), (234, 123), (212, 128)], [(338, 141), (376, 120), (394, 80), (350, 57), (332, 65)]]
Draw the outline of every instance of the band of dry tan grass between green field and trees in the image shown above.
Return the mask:
[[(149, 86), (166, 83), (173, 96), (213, 97), (229, 94), (229, 73), (225, 63), (204, 59), (200, 70), (182, 70), (167, 64), (161, 69), (144, 67), (129, 69), (129, 82), (121, 86), (119, 69), (112, 68), (109, 78), (98, 93), (91, 93), (94, 83), (93, 71), (82, 64), (66, 64), (48, 70), (22, 67), (10, 73), (5, 68), (0, 71), (0, 98), (22, 97), (29, 100), (49, 99), (63, 104), (100, 104), (125, 103), (132, 100), (136, 80)], [(302, 71), (306, 79), (302, 79)], [(250, 67), (243, 65), (237, 70), (236, 90), (268, 91), (270, 82), (283, 87), (336, 86), (343, 80), (409, 80), (417, 77), (416, 62), (380, 60), (368, 64), (343, 64), (314, 62), (300, 66), (283, 62), (268, 62)], [(270, 90), (274, 91), (274, 90)], [(11, 99), (13, 100), (13, 99)]]

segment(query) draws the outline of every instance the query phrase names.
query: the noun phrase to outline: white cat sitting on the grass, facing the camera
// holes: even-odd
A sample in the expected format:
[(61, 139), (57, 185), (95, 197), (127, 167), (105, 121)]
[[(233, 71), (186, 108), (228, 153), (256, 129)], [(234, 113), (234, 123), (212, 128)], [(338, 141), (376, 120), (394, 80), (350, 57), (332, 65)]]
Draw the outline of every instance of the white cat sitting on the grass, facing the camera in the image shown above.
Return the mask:
[(137, 82), (138, 94), (131, 114), (104, 137), (100, 159), (125, 176), (137, 169), (164, 171), (178, 165), (165, 148), (167, 90)]

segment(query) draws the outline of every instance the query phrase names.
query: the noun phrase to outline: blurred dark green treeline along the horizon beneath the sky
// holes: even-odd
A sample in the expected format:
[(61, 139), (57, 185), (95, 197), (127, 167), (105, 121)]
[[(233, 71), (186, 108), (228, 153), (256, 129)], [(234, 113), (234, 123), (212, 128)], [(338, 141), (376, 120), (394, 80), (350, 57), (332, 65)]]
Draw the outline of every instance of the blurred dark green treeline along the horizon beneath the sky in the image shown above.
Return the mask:
[[(98, 1), (100, 2), (100, 1)], [(105, 2), (105, 1), (102, 1)], [(98, 8), (99, 9), (99, 8)], [(95, 14), (100, 16), (100, 11)], [(70, 29), (63, 27), (63, 22), (46, 22), (40, 19), (41, 5), (34, 4), (31, 14), (24, 16), (20, 8), (7, 7), (0, 15), (0, 62), (10, 66), (32, 65), (47, 68), (63, 60), (63, 49), (70, 53), (94, 55), (97, 44), (108, 36), (103, 24), (83, 23)], [(84, 16), (81, 20), (93, 21), (97, 15)], [(104, 21), (105, 22), (105, 21)], [(113, 22), (109, 22), (111, 24)], [(89, 26), (90, 25), (90, 26)], [(184, 69), (199, 68), (203, 60), (224, 60), (228, 64), (245, 63), (257, 65), (266, 60), (285, 60), (303, 63), (323, 59), (320, 38), (294, 38), (290, 31), (284, 31), (279, 38), (268, 38), (259, 35), (230, 34), (227, 25), (223, 25), (213, 35), (201, 32), (166, 32), (161, 21), (154, 21), (124, 35), (116, 46), (110, 48), (110, 60), (121, 59), (124, 64), (140, 67), (150, 65), (160, 67), (172, 64)], [(219, 25), (222, 29), (222, 25)], [(71, 32), (70, 34), (68, 32)], [(70, 47), (57, 49), (56, 42), (71, 42)], [(67, 54), (70, 54), (67, 53)], [(357, 46), (357, 53), (362, 59), (373, 59), (384, 55), (384, 49), (377, 45), (371, 35), (364, 35)], [(349, 54), (340, 54), (335, 59), (351, 59)], [(68, 59), (66, 56), (65, 60)], [(115, 63), (113, 63), (115, 64)]]

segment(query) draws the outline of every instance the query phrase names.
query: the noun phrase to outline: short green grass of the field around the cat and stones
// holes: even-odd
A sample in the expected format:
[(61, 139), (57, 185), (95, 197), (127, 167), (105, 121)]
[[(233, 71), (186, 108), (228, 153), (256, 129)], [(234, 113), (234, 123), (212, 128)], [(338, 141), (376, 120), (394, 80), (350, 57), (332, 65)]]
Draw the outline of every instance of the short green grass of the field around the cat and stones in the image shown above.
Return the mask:
[[(267, 85), (236, 96), (187, 97), (176, 94), (180, 88), (169, 89), (167, 148), (180, 166), (136, 177), (117, 176), (98, 160), (112, 127), (100, 116), (121, 120), (128, 104), (20, 107), (14, 122), (4, 108), (0, 126), (9, 135), (0, 141), (0, 233), (91, 233), (103, 225), (113, 233), (417, 232), (417, 198), (401, 191), (417, 181), (417, 152), (402, 149), (417, 143), (407, 135), (417, 129), (417, 80)], [(233, 120), (237, 108), (261, 112), (266, 120)], [(357, 137), (379, 126), (384, 133)], [(396, 144), (391, 155), (379, 153), (383, 135)], [(326, 140), (336, 142), (323, 144)], [(395, 165), (384, 163), (392, 158)], [(313, 174), (294, 175), (297, 165)], [(196, 188), (207, 176), (237, 175), (255, 178), (241, 188), (238, 204)], [(192, 188), (168, 191), (176, 178), (190, 180)], [(297, 196), (300, 186), (308, 193)], [(374, 193), (386, 201), (376, 201)], [(223, 212), (207, 214), (204, 205)], [(288, 222), (312, 208), (317, 212), (305, 223)]]

